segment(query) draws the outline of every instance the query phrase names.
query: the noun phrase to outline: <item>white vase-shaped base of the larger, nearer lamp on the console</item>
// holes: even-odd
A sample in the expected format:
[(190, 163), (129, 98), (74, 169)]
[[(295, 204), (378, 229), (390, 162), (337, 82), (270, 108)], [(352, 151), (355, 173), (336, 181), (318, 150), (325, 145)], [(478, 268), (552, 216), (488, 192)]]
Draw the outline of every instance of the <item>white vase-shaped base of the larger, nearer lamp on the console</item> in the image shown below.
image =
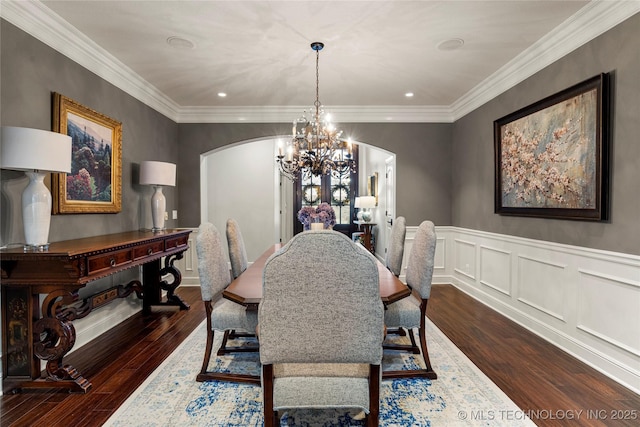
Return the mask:
[(44, 185), (44, 173), (26, 172), (29, 185), (22, 192), (22, 222), (25, 250), (46, 250), (51, 225), (51, 192)]

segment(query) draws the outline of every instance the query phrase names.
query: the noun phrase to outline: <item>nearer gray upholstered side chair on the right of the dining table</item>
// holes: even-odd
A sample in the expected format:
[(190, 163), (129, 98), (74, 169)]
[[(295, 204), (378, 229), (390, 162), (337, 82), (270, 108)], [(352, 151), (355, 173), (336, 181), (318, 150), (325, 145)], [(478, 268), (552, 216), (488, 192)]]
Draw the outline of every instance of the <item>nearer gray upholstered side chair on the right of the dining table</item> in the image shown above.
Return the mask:
[[(419, 354), (422, 349), (425, 368), (417, 370), (385, 371), (383, 378), (426, 377), (436, 379), (438, 376), (431, 367), (426, 339), (427, 302), (431, 295), (431, 278), (436, 251), (436, 231), (433, 222), (423, 221), (416, 231), (409, 261), (407, 263), (406, 281), (412, 288), (412, 294), (406, 298), (389, 304), (384, 312), (387, 328), (405, 328), (409, 330), (411, 345), (387, 345), (385, 349), (411, 351)], [(416, 345), (413, 330), (418, 328), (420, 347)]]

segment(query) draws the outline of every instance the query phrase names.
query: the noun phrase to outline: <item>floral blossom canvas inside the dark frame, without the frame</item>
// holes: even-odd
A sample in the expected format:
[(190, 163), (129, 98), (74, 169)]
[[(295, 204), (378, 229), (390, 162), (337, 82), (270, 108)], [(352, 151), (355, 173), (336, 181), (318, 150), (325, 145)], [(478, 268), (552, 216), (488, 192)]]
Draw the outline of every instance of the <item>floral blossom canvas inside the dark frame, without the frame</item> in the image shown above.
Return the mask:
[(504, 206), (595, 206), (596, 107), (591, 90), (503, 126)]

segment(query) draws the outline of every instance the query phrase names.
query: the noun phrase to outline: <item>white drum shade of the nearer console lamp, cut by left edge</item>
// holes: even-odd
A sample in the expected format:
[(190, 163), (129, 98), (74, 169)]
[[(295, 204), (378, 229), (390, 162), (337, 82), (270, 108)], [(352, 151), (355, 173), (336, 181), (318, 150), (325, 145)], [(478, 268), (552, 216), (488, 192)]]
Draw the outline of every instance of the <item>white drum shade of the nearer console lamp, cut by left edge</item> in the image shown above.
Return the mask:
[(71, 137), (40, 129), (3, 126), (0, 168), (71, 172)]

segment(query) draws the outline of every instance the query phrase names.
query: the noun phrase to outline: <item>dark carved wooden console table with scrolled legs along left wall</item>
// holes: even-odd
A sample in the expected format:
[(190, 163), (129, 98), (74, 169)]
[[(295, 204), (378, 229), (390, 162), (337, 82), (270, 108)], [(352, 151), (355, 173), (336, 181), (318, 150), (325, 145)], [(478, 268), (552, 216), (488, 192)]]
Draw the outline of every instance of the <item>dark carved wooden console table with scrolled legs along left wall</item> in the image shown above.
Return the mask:
[[(145, 312), (156, 305), (188, 309), (175, 294), (182, 276), (173, 263), (188, 249), (190, 232), (131, 231), (55, 242), (40, 252), (0, 251), (4, 391), (64, 388), (86, 393), (91, 383), (71, 365), (63, 365), (62, 358), (75, 343), (72, 321), (94, 308), (135, 292)], [(90, 282), (136, 266), (142, 266), (142, 282), (80, 299), (78, 290)], [(166, 275), (173, 280), (162, 280)], [(47, 362), (45, 378), (40, 360)]]

